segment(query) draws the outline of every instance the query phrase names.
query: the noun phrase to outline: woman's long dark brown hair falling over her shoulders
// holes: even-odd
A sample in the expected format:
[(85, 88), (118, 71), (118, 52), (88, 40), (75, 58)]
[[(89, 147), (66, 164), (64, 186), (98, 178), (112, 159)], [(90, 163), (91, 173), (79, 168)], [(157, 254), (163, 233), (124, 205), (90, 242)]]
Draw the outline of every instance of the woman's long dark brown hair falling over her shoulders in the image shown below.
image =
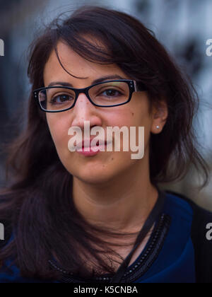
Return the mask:
[[(105, 47), (89, 42), (87, 35)], [(151, 30), (125, 13), (97, 6), (83, 6), (65, 20), (57, 18), (30, 47), (28, 76), (32, 91), (44, 86), (44, 66), (52, 50), (57, 52), (59, 40), (81, 57), (117, 64), (131, 79), (144, 83), (151, 107), (166, 100), (167, 123), (163, 132), (151, 134), (150, 173), (154, 185), (182, 179), (189, 165), (202, 171), (206, 185), (208, 168), (196, 149), (192, 127), (198, 95)], [(45, 114), (35, 104), (33, 92), (27, 127), (7, 153), (7, 171), (13, 182), (1, 191), (0, 219), (8, 223), (14, 237), (1, 250), (0, 259), (13, 257), (24, 276), (43, 279), (58, 277), (48, 264), (52, 252), (64, 269), (84, 277), (90, 275), (83, 262), (88, 257), (95, 260), (95, 272), (114, 272), (101, 257), (113, 255), (112, 246), (98, 235), (118, 234), (91, 226), (75, 208), (71, 199), (73, 177), (59, 160)]]

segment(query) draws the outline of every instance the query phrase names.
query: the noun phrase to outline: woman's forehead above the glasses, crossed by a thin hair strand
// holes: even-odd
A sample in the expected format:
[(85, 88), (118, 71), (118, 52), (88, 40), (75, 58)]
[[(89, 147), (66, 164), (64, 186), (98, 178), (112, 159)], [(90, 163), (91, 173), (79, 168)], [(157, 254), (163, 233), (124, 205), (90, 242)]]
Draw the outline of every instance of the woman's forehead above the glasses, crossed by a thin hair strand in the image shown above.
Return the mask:
[[(71, 47), (63, 42), (58, 42), (57, 50), (61, 64), (64, 66), (66, 71), (69, 72), (69, 74), (61, 66), (57, 58), (57, 54), (53, 50), (47, 63), (45, 64), (45, 86), (52, 81), (65, 80), (72, 81), (73, 83), (78, 81), (92, 81), (100, 76), (114, 74), (123, 76), (124, 78), (129, 78), (116, 64), (98, 64), (90, 62), (74, 52)], [(78, 78), (74, 78), (70, 74), (77, 76)]]

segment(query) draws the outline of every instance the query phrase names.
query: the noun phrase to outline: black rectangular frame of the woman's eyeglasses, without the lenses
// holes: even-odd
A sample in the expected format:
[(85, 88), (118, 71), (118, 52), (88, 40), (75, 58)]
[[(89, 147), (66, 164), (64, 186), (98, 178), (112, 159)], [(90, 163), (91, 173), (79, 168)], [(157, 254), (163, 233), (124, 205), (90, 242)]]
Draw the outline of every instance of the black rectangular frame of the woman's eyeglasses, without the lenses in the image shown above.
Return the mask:
[[(94, 86), (98, 86), (98, 85), (101, 85), (103, 83), (113, 83), (113, 82), (126, 82), (129, 86), (129, 99), (125, 102), (125, 103), (119, 103), (117, 105), (98, 105), (96, 103), (94, 103), (92, 101), (92, 99), (90, 98), (90, 95), (89, 95), (89, 90), (90, 88), (93, 88)], [(40, 104), (40, 101), (39, 101), (39, 93), (40, 91), (45, 91), (45, 90), (48, 90), (48, 89), (52, 89), (52, 88), (65, 88), (65, 89), (68, 89), (68, 90), (72, 90), (75, 92), (75, 95), (76, 95), (76, 98), (73, 102), (73, 105), (69, 108), (66, 108), (65, 110), (45, 110), (45, 108), (43, 108)], [(130, 79), (119, 79), (119, 80), (112, 80), (112, 81), (103, 81), (102, 83), (95, 83), (94, 85), (92, 86), (88, 86), (87, 88), (71, 88), (71, 87), (68, 87), (68, 86), (51, 86), (51, 87), (46, 87), (46, 88), (37, 88), (36, 90), (33, 91), (33, 95), (34, 95), (34, 98), (35, 98), (35, 101), (36, 103), (38, 104), (38, 106), (40, 107), (40, 110), (42, 110), (43, 112), (65, 112), (67, 110), (71, 110), (75, 105), (76, 105), (76, 100), (78, 99), (78, 95), (80, 93), (84, 93), (86, 94), (88, 100), (90, 101), (90, 103), (92, 103), (93, 105), (97, 106), (97, 107), (116, 107), (116, 106), (120, 106), (120, 105), (124, 105), (126, 103), (129, 103), (130, 100), (131, 100), (131, 97), (132, 97), (132, 94), (134, 92), (137, 92), (138, 91), (138, 88), (137, 88), (137, 85), (136, 85), (136, 81), (134, 80), (130, 80)], [(146, 87), (143, 85), (143, 84), (139, 84), (139, 91), (146, 91)]]

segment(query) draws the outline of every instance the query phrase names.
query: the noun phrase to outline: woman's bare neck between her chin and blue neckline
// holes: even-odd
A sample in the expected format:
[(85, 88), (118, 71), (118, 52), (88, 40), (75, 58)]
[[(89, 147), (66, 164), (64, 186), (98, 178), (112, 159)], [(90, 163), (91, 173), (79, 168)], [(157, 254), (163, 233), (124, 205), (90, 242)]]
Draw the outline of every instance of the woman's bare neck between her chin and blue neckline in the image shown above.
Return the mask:
[(73, 177), (73, 202), (81, 215), (114, 231), (139, 231), (157, 199), (158, 190), (141, 168), (97, 185)]

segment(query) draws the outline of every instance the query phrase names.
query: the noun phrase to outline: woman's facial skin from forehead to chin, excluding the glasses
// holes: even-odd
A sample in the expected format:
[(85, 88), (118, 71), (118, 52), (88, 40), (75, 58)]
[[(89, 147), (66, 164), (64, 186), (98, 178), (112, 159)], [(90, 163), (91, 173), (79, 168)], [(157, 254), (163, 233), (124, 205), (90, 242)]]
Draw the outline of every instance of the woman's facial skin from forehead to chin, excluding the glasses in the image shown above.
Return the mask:
[[(64, 71), (53, 51), (45, 65), (45, 86), (49, 86), (49, 83), (52, 82), (62, 81), (70, 83), (73, 88), (86, 88), (103, 76), (121, 76), (131, 79), (117, 65), (88, 62), (62, 42), (58, 43), (58, 52), (64, 68), (73, 76), (83, 79), (74, 78)], [(77, 126), (83, 131), (85, 121), (90, 121), (90, 129), (96, 126), (104, 129), (105, 137), (107, 127), (122, 128), (125, 126), (129, 129), (137, 127), (137, 137), (138, 127), (145, 127), (144, 157), (137, 160), (131, 159), (131, 151), (122, 151), (122, 141), (121, 151), (100, 151), (95, 156), (83, 156), (77, 151), (69, 151), (68, 143), (73, 137), (68, 134), (69, 129)], [(108, 182), (114, 177), (130, 172), (133, 166), (140, 166), (140, 168), (143, 166), (142, 170), (148, 170), (146, 167), (148, 165), (146, 160), (148, 158), (148, 142), (151, 132), (155, 132), (154, 126), (157, 125), (154, 121), (153, 115), (149, 114), (146, 92), (133, 93), (131, 101), (126, 105), (107, 108), (95, 107), (86, 95), (81, 93), (73, 109), (66, 112), (47, 113), (47, 124), (61, 163), (73, 175), (73, 178), (87, 183)], [(136, 143), (138, 144), (138, 140)]]

